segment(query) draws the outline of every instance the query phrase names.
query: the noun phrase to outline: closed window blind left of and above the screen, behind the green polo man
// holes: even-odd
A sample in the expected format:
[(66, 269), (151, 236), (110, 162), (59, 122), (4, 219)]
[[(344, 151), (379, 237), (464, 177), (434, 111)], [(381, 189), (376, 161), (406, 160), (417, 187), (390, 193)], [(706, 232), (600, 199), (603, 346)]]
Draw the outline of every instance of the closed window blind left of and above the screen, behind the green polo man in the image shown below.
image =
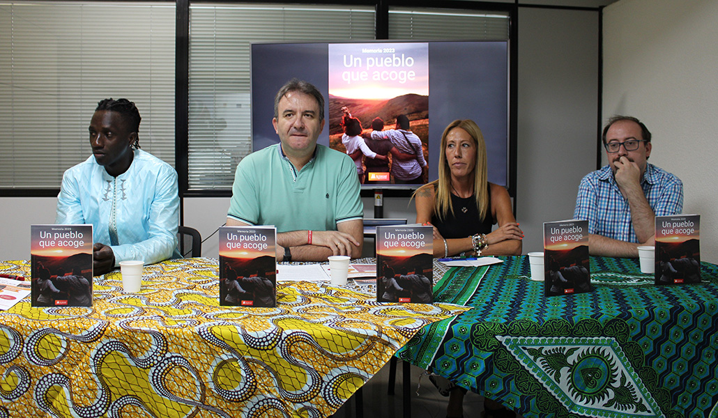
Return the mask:
[(190, 4), (189, 189), (230, 189), (251, 152), (251, 43), (374, 39), (374, 27), (372, 6)]

